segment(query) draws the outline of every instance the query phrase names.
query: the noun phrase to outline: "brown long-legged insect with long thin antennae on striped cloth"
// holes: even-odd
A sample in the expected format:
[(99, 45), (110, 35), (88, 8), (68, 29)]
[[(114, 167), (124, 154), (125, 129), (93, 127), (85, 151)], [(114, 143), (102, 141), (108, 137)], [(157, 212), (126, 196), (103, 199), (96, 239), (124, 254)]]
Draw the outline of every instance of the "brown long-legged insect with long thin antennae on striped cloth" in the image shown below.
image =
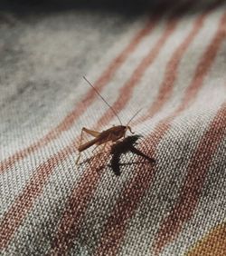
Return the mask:
[[(117, 116), (120, 125), (108, 128), (107, 130), (105, 130), (103, 132), (92, 131), (92, 130), (89, 130), (89, 129), (83, 127), (81, 129), (81, 133), (80, 133), (80, 146), (78, 147), (79, 156), (78, 156), (78, 159), (76, 161), (76, 164), (78, 164), (78, 162), (80, 161), (80, 153), (85, 151), (86, 149), (88, 149), (92, 145), (96, 144), (96, 147), (94, 148), (94, 150), (95, 150), (97, 147), (99, 147), (99, 145), (104, 144), (104, 147), (103, 147), (103, 151), (104, 151), (108, 142), (115, 143), (119, 139), (125, 138), (127, 130), (130, 133), (133, 133), (132, 130), (131, 130), (131, 127), (128, 124), (131, 123), (131, 121), (136, 117), (137, 113), (139, 113), (141, 111), (141, 109), (138, 110), (137, 113), (135, 113), (132, 116), (132, 118), (130, 118), (127, 125), (122, 125), (122, 122), (121, 122), (118, 114), (115, 112), (115, 110), (108, 104), (108, 102), (102, 97), (102, 95), (99, 94), (98, 90), (88, 81), (88, 79), (85, 76), (83, 76), (83, 78), (93, 88), (93, 90), (96, 92), (96, 94), (98, 94), (99, 97), (108, 105), (108, 107), (111, 109), (111, 111)], [(88, 143), (83, 143), (82, 144), (82, 139), (83, 139), (83, 133), (84, 132), (89, 133), (89, 135), (93, 136), (94, 139), (90, 140)]]

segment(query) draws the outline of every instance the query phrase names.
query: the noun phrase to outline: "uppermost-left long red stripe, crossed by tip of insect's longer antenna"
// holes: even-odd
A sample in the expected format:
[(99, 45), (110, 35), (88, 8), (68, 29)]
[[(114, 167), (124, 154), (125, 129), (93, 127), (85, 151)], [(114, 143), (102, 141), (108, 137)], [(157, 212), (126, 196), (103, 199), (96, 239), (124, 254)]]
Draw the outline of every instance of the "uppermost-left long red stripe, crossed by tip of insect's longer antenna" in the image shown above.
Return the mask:
[[(143, 38), (152, 32), (155, 27), (155, 20), (150, 20), (146, 26), (141, 29), (130, 41), (127, 47), (109, 64), (108, 68), (99, 76), (99, 79), (94, 83), (94, 86), (98, 88), (99, 92), (104, 88), (106, 84), (110, 81), (113, 75), (117, 72), (118, 68), (127, 60), (129, 54), (131, 54), (137, 47), (138, 44), (143, 40)], [(69, 113), (62, 122), (56, 126), (50, 133), (43, 136), (38, 142), (33, 143), (27, 148), (14, 153), (12, 156), (8, 157), (4, 161), (0, 162), (0, 173), (5, 172), (12, 166), (15, 162), (23, 160), (25, 157), (34, 153), (42, 146), (50, 143), (52, 140), (57, 139), (63, 131), (70, 129), (71, 125), (84, 113), (89, 105), (94, 102), (97, 95), (90, 88), (89, 92), (85, 95), (85, 98), (78, 103), (75, 108)]]

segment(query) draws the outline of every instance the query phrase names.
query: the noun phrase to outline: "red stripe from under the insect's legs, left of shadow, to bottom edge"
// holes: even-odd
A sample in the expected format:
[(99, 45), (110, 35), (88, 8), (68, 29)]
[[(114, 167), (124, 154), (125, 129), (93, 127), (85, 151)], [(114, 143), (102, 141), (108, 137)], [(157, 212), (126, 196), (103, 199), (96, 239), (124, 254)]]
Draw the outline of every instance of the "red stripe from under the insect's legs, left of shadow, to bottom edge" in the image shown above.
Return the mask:
[[(106, 153), (102, 158), (103, 161), (99, 162), (106, 162), (108, 157), (109, 153)], [(85, 214), (87, 203), (98, 186), (99, 177), (103, 175), (103, 170), (97, 172), (99, 162), (91, 163), (91, 167), (86, 170), (80, 184), (71, 192), (70, 200), (66, 202), (66, 209), (62, 214), (60, 225), (52, 241), (50, 255), (64, 255), (65, 249), (69, 250), (71, 248), (74, 235), (79, 231), (80, 220)]]

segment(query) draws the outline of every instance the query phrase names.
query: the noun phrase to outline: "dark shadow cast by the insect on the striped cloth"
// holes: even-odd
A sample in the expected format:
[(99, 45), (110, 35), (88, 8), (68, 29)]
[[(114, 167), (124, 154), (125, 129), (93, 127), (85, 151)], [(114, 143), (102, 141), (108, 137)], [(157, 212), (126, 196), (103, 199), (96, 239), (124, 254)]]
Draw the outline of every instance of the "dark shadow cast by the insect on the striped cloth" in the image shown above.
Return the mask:
[(120, 163), (120, 158), (121, 158), (122, 154), (125, 154), (125, 153), (133, 153), (133, 154), (136, 154), (137, 156), (141, 156), (149, 163), (155, 163), (154, 158), (149, 157), (148, 155), (141, 152), (140, 150), (138, 150), (135, 147), (135, 145), (138, 144), (137, 140), (140, 137), (142, 137), (142, 136), (141, 135), (128, 136), (123, 141), (119, 141), (118, 143), (115, 143), (111, 147), (112, 158), (111, 158), (110, 163), (108, 164), (108, 167), (110, 167), (116, 175), (119, 176), (121, 174), (121, 170), (120, 170), (121, 166), (125, 166), (125, 165), (128, 166), (128, 165), (134, 165), (134, 164), (139, 164), (139, 163), (144, 164), (144, 162)]

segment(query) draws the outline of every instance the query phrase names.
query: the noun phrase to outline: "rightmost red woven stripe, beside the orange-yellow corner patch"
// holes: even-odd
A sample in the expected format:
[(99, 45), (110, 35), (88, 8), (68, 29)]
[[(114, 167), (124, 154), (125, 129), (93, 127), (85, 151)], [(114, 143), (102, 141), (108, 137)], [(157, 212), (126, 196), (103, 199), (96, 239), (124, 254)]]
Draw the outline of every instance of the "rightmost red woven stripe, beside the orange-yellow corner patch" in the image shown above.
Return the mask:
[(207, 132), (202, 136), (189, 163), (186, 179), (178, 202), (170, 215), (162, 222), (155, 238), (155, 253), (158, 255), (165, 245), (174, 240), (183, 225), (192, 216), (202, 193), (202, 187), (214, 153), (226, 135), (226, 103), (216, 114)]

